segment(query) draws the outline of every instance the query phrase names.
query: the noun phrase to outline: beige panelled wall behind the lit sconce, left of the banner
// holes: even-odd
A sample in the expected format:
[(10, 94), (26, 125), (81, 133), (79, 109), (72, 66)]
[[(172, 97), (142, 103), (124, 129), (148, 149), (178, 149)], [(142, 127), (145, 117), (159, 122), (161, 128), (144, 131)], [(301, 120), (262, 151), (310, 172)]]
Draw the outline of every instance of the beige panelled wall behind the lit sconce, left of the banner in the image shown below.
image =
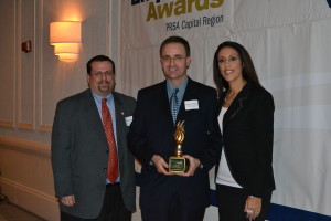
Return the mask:
[[(110, 49), (111, 0), (0, 1), (0, 187), (9, 200), (46, 220), (58, 220), (50, 137), (58, 99), (86, 88), (85, 64)], [(78, 61), (60, 62), (49, 24), (82, 21)], [(114, 17), (114, 15), (111, 15)], [(116, 27), (116, 25), (115, 25)], [(21, 43), (32, 41), (32, 52)], [(116, 42), (116, 36), (111, 38)], [(117, 61), (116, 54), (110, 55)]]

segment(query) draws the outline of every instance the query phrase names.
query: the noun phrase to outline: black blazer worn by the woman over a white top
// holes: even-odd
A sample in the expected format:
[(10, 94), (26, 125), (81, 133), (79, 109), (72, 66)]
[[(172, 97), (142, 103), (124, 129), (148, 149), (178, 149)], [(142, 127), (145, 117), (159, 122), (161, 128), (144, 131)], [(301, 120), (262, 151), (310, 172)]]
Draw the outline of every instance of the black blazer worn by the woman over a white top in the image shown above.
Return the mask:
[[(218, 114), (226, 93), (220, 98)], [(236, 182), (255, 197), (275, 189), (274, 110), (271, 94), (248, 81), (223, 118), (224, 152), (229, 171)]]

